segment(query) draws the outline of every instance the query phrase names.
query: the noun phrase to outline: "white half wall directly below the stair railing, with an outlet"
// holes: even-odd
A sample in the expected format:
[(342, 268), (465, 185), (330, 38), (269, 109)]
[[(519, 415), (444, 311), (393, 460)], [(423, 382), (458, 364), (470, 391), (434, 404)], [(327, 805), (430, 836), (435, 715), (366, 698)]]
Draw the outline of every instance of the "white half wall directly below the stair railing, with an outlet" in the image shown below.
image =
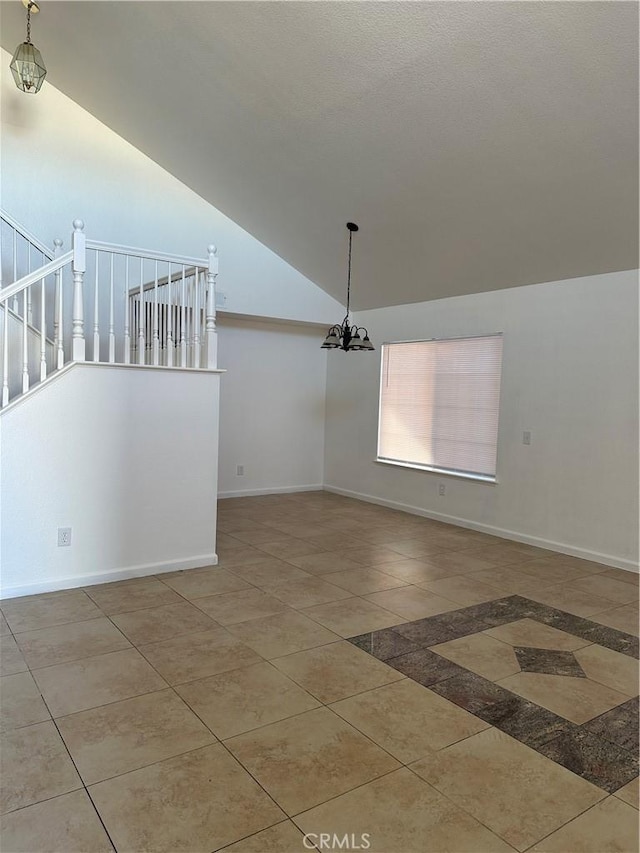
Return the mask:
[(73, 365), (7, 409), (0, 594), (215, 563), (219, 382)]

